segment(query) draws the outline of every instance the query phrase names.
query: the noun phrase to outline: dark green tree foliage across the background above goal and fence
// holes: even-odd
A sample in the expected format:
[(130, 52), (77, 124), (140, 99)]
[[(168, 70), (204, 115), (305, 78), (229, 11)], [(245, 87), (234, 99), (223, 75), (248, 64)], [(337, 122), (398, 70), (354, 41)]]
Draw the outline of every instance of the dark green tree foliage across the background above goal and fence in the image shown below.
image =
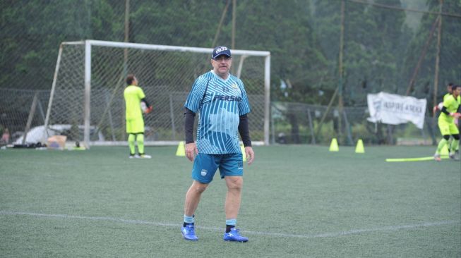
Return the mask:
[[(212, 47), (227, 1), (131, 1), (128, 39)], [(407, 0), (370, 2), (402, 7), (401, 1)], [(427, 6), (430, 11), (438, 11), (438, 3), (428, 1)], [(444, 12), (461, 13), (460, 1), (443, 3)], [(274, 100), (329, 102), (340, 84), (340, 6), (337, 0), (237, 1), (235, 48), (271, 52)], [(0, 7), (0, 82), (8, 87), (49, 89), (61, 42), (124, 40), (124, 1), (16, 0), (2, 1)], [(230, 4), (217, 44), (232, 44), (232, 11)], [(412, 26), (414, 30), (408, 26), (404, 11), (345, 0), (345, 104), (364, 105), (370, 92), (405, 94), (435, 18), (424, 14), (419, 24)], [(443, 17), (441, 85), (461, 78), (456, 60), (461, 53), (460, 20)], [(431, 92), (435, 42), (436, 36), (412, 91), (417, 97)]]

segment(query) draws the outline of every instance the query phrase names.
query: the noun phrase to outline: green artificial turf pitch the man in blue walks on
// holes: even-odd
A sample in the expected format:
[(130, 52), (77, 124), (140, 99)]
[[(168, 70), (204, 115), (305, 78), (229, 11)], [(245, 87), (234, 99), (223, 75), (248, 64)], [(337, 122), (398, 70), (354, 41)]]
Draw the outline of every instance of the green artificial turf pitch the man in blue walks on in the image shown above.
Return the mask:
[[(461, 257), (461, 163), (385, 162), (434, 147), (254, 147), (237, 226), (224, 242), (225, 183), (182, 238), (192, 163), (176, 147), (0, 150), (0, 257)], [(218, 173), (219, 174), (219, 173)]]

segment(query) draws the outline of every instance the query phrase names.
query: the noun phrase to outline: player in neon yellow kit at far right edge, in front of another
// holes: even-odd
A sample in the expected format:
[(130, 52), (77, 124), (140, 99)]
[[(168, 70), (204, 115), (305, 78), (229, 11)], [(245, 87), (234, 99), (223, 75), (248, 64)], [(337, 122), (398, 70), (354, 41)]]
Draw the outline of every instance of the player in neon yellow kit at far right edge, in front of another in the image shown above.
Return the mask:
[(441, 130), (443, 136), (442, 140), (438, 142), (436, 154), (434, 159), (441, 160), (441, 150), (450, 140), (450, 135), (453, 137), (453, 142), (450, 148), (450, 158), (459, 159), (459, 145), (460, 145), (460, 130), (455, 124), (455, 119), (461, 116), (461, 85), (454, 85), (452, 87), (452, 94), (443, 99), (443, 107), (441, 114), (438, 116), (438, 128)]

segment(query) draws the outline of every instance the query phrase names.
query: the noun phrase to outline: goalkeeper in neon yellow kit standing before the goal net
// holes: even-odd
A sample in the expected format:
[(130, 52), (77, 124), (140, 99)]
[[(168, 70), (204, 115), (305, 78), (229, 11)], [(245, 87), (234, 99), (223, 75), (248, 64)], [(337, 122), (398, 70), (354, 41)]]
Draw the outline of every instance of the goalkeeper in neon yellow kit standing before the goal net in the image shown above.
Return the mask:
[[(145, 100), (143, 89), (138, 86), (138, 79), (134, 75), (126, 77), (126, 88), (124, 90), (126, 107), (126, 133), (128, 133), (128, 146), (130, 147), (130, 159), (150, 159), (144, 153), (144, 113), (150, 113), (152, 106)], [(145, 106), (145, 109), (141, 109)], [(138, 154), (136, 154), (136, 143)]]

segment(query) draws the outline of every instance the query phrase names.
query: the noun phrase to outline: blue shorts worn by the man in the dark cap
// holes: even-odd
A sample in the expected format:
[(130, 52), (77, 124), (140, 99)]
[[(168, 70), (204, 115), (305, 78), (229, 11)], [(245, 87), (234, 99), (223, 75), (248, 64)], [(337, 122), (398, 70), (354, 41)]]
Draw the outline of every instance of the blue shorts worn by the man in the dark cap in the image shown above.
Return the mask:
[(220, 168), (221, 178), (224, 176), (244, 176), (244, 160), (241, 152), (232, 154), (199, 153), (193, 160), (192, 178), (200, 183), (208, 184)]

